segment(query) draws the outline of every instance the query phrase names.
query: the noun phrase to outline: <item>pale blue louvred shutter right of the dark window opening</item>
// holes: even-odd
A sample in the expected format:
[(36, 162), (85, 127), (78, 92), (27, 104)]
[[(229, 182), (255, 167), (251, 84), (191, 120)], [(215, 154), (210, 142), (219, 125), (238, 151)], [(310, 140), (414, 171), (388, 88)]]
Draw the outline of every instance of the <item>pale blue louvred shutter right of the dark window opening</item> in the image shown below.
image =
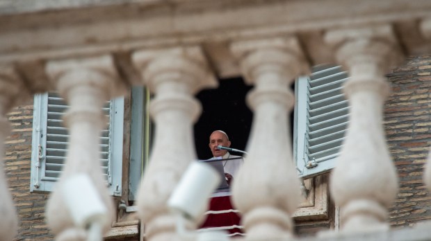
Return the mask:
[(348, 124), (348, 101), (341, 91), (347, 79), (340, 66), (316, 66), (295, 83), (294, 156), (300, 177), (334, 168)]

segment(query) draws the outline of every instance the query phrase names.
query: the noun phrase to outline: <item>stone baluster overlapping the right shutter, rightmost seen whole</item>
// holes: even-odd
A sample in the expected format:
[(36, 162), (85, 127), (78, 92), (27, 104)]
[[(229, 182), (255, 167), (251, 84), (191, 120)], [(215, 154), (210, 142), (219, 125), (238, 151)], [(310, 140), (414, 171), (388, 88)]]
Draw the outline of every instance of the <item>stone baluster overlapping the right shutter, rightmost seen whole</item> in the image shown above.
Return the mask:
[(387, 208), (398, 192), (398, 178), (382, 127), (389, 94), (385, 73), (400, 60), (390, 26), (331, 30), (325, 41), (350, 73), (344, 92), (350, 120), (330, 181), (341, 210), (341, 231), (389, 229)]

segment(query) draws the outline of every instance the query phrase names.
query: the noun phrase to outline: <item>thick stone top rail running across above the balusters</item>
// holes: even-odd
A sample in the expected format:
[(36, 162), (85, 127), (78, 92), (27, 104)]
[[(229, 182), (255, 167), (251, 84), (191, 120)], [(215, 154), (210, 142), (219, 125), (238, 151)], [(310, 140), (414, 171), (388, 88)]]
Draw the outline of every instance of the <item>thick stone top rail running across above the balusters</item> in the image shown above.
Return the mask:
[[(222, 56), (222, 61), (213, 55), (228, 52), (227, 46), (234, 40), (298, 35), (301, 44), (309, 48), (306, 55), (310, 55), (311, 64), (318, 64), (328, 58), (315, 57), (324, 54), (315, 53), (307, 38), (318, 44), (318, 51), (327, 53), (325, 46), (315, 43), (316, 36), (326, 30), (376, 24), (393, 24), (407, 53), (430, 48), (419, 30), (421, 21), (430, 16), (428, 0), (93, 2), (83, 7), (12, 15), (5, 11), (2, 15), (0, 6), (0, 62), (203, 44), (204, 48), (209, 45), (206, 51), (223, 77), (238, 74), (238, 68), (220, 64), (230, 55)], [(218, 53), (211, 53), (214, 43), (218, 44)]]

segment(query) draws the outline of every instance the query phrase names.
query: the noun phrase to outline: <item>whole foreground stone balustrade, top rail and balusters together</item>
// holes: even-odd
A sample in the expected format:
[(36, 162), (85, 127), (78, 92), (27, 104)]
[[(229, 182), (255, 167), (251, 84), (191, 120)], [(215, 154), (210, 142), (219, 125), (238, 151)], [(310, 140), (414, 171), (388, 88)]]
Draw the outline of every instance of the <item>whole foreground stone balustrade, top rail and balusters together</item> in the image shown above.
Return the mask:
[[(387, 208), (398, 182), (382, 129), (382, 105), (389, 91), (384, 75), (406, 53), (430, 49), (431, 2), (174, 2), (135, 3), (148, 15), (133, 12), (135, 5), (121, 1), (95, 3), (93, 8), (69, 6), (57, 9), (58, 14), (26, 12), (31, 6), (15, 15), (13, 10), (1, 11), (1, 21), (10, 24), (0, 26), (0, 139), (8, 135), (6, 112), (33, 93), (56, 89), (70, 105), (65, 116), (71, 136), (66, 166), (47, 206), (56, 240), (87, 240), (110, 228), (109, 222), (81, 220), (74, 211), (65, 212), (70, 204), (62, 190), (77, 174), (86, 174), (106, 215), (113, 217), (97, 165), (97, 136), (106, 123), (100, 107), (132, 85), (145, 85), (154, 93), (151, 114), (157, 127), (138, 195), (138, 217), (146, 225), (147, 240), (178, 240), (176, 220), (166, 203), (195, 159), (192, 127), (201, 109), (194, 94), (216, 87), (215, 75), (238, 74), (254, 85), (247, 96), (254, 123), (247, 162), (235, 179), (234, 203), (243, 213), (247, 240), (291, 239), (300, 185), (286, 125), (294, 99), (288, 86), (309, 66), (334, 61), (351, 76), (344, 87), (351, 119), (330, 185), (342, 226), (330, 239), (354, 240), (357, 233), (374, 231), (390, 240), (394, 234), (385, 232)], [(304, 9), (309, 13), (296, 12)], [(113, 19), (106, 18), (116, 10)], [(82, 12), (80, 18), (67, 18), (76, 11)], [(257, 170), (259, 176), (252, 175)], [(428, 168), (428, 186), (430, 173)], [(13, 240), (17, 215), (6, 183), (0, 172), (0, 237)], [(197, 222), (190, 220), (187, 226), (195, 229)], [(409, 240), (407, 236), (400, 240)]]

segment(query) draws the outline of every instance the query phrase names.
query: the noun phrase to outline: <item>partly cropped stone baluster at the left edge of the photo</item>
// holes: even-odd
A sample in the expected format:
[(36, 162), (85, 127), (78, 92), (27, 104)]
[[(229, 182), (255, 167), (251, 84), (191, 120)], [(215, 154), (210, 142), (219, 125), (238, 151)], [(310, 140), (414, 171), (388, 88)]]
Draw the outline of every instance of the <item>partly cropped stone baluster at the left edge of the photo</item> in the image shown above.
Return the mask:
[(8, 181), (3, 172), (4, 141), (9, 134), (10, 124), (6, 113), (20, 100), (29, 98), (29, 93), (13, 66), (0, 65), (0, 240), (13, 240), (17, 233), (18, 220), (13, 206)]

